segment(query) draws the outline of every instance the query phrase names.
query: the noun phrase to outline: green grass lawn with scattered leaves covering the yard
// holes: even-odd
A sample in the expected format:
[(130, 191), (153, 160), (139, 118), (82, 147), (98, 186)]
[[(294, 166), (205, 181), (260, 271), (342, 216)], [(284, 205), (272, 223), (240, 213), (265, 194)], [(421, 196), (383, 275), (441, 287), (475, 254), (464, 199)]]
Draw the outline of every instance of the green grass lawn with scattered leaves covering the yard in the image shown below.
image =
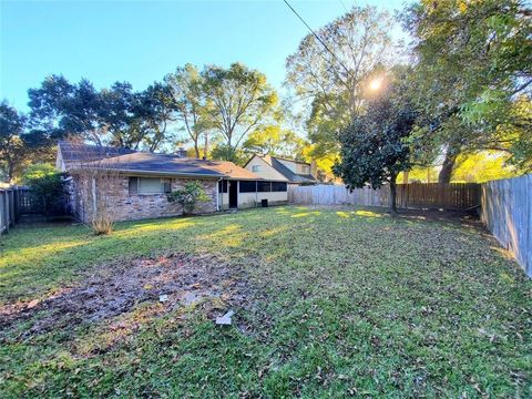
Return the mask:
[[(99, 237), (14, 228), (0, 238), (0, 318), (105, 265), (171, 252), (213, 256), (245, 296), (155, 298), (33, 331), (51, 311), (35, 306), (0, 331), (0, 396), (532, 396), (532, 284), (519, 266), (478, 228), (376, 211), (273, 207)], [(233, 325), (216, 326), (229, 307)]]

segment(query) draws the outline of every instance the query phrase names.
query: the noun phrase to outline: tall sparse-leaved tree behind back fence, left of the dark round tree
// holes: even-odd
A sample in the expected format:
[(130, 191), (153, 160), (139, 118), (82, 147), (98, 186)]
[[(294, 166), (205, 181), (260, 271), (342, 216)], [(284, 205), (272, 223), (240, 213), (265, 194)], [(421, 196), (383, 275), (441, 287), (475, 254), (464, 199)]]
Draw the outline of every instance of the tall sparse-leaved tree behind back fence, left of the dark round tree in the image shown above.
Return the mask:
[[(374, 7), (357, 8), (308, 34), (286, 60), (286, 83), (304, 101), (313, 157), (336, 156), (337, 133), (364, 112), (367, 82), (390, 63), (391, 20)], [(332, 55), (334, 54), (334, 55)]]

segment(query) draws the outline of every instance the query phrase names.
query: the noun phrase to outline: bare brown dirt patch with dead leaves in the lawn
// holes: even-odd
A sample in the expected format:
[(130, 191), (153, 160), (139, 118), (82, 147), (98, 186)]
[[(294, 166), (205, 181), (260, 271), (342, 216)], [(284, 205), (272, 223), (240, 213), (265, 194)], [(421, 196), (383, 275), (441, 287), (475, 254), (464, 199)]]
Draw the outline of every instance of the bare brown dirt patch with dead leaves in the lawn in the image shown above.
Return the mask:
[(213, 301), (221, 315), (247, 300), (249, 289), (244, 277), (242, 268), (212, 255), (167, 253), (114, 262), (86, 274), (81, 284), (65, 287), (42, 301), (0, 307), (0, 330), (39, 314), (24, 334), (34, 335), (115, 317), (141, 303), (160, 304), (163, 311), (171, 311)]

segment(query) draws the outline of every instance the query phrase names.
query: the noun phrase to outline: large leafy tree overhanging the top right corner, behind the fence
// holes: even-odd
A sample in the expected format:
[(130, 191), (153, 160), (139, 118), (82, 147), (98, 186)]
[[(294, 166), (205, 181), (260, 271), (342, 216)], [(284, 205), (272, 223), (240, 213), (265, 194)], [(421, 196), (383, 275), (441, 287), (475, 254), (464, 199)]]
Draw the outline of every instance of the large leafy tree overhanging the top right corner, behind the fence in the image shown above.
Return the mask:
[(423, 0), (407, 8), (402, 20), (415, 38), (416, 91), (427, 135), (444, 150), (440, 182), (451, 178), (463, 152), (502, 150), (511, 161), (526, 163), (521, 156), (528, 153), (522, 149), (530, 115), (512, 112), (520, 98), (530, 102), (532, 28), (525, 2)]

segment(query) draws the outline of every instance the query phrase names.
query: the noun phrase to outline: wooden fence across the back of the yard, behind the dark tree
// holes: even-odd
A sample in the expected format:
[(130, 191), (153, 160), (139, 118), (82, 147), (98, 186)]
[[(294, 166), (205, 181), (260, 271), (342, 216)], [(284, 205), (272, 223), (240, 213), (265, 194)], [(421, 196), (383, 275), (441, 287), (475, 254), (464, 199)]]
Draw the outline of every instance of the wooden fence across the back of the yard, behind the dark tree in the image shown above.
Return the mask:
[[(349, 192), (340, 185), (290, 186), (288, 201), (301, 205), (388, 206), (390, 188), (369, 187)], [(480, 205), (480, 184), (475, 183), (428, 183), (398, 184), (399, 208), (468, 209)]]

